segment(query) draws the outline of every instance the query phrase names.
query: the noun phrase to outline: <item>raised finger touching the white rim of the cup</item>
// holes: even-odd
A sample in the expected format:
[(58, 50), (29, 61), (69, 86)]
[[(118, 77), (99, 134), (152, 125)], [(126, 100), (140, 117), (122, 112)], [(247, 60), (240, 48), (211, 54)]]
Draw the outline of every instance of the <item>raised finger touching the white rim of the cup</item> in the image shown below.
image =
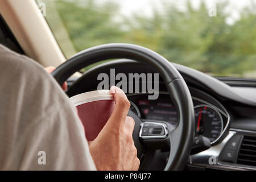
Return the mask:
[(115, 124), (122, 125), (125, 123), (126, 116), (130, 109), (130, 102), (127, 99), (123, 90), (116, 86), (112, 86), (110, 93), (114, 96), (115, 106), (112, 115), (110, 116), (110, 121), (115, 122)]

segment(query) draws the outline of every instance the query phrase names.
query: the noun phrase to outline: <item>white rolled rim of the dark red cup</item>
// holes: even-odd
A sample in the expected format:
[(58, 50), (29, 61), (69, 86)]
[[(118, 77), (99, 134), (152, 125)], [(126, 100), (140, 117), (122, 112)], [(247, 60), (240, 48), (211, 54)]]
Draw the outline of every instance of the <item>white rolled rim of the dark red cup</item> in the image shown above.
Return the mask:
[(88, 102), (114, 100), (114, 97), (112, 94), (110, 94), (110, 90), (94, 90), (77, 94), (76, 96), (69, 98), (69, 100), (71, 100), (75, 106), (78, 106)]

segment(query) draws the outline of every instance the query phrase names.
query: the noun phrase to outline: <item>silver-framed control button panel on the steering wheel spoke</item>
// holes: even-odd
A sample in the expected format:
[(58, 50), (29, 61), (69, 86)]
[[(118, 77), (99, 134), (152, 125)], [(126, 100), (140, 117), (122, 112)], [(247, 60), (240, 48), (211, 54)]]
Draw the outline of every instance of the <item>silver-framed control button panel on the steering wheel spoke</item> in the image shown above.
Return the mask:
[(142, 139), (155, 139), (167, 137), (167, 126), (164, 123), (143, 122), (139, 137)]

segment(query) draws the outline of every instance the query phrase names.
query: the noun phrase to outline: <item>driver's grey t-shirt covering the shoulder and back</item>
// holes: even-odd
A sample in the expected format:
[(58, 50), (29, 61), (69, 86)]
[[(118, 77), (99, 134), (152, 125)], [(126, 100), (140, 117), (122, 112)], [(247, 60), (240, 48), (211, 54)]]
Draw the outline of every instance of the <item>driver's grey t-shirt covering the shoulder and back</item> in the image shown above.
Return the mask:
[(2, 45), (0, 169), (96, 170), (75, 107), (54, 78)]

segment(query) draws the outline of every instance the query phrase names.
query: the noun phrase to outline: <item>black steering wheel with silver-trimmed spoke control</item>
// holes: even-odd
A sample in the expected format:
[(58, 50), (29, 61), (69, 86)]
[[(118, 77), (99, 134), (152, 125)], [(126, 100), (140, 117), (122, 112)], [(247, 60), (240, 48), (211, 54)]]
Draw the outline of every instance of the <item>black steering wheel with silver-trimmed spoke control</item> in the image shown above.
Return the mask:
[[(130, 113), (135, 121), (133, 139), (138, 151), (141, 151), (143, 144), (154, 143), (155, 146), (158, 144), (161, 146), (163, 141), (168, 142), (170, 156), (164, 170), (184, 169), (193, 143), (195, 131), (194, 109), (188, 86), (170, 61), (158, 53), (141, 46), (123, 43), (104, 44), (77, 53), (57, 67), (52, 72), (52, 76), (62, 85), (73, 73), (87, 65), (107, 59), (137, 60), (154, 67), (162, 76), (168, 93), (177, 107), (179, 122), (175, 127), (168, 122), (148, 122), (147, 125), (156, 124), (154, 126), (163, 130), (158, 135), (143, 137), (142, 129), (146, 127), (145, 122), (142, 122), (137, 115)], [(141, 125), (142, 123), (143, 125)]]

